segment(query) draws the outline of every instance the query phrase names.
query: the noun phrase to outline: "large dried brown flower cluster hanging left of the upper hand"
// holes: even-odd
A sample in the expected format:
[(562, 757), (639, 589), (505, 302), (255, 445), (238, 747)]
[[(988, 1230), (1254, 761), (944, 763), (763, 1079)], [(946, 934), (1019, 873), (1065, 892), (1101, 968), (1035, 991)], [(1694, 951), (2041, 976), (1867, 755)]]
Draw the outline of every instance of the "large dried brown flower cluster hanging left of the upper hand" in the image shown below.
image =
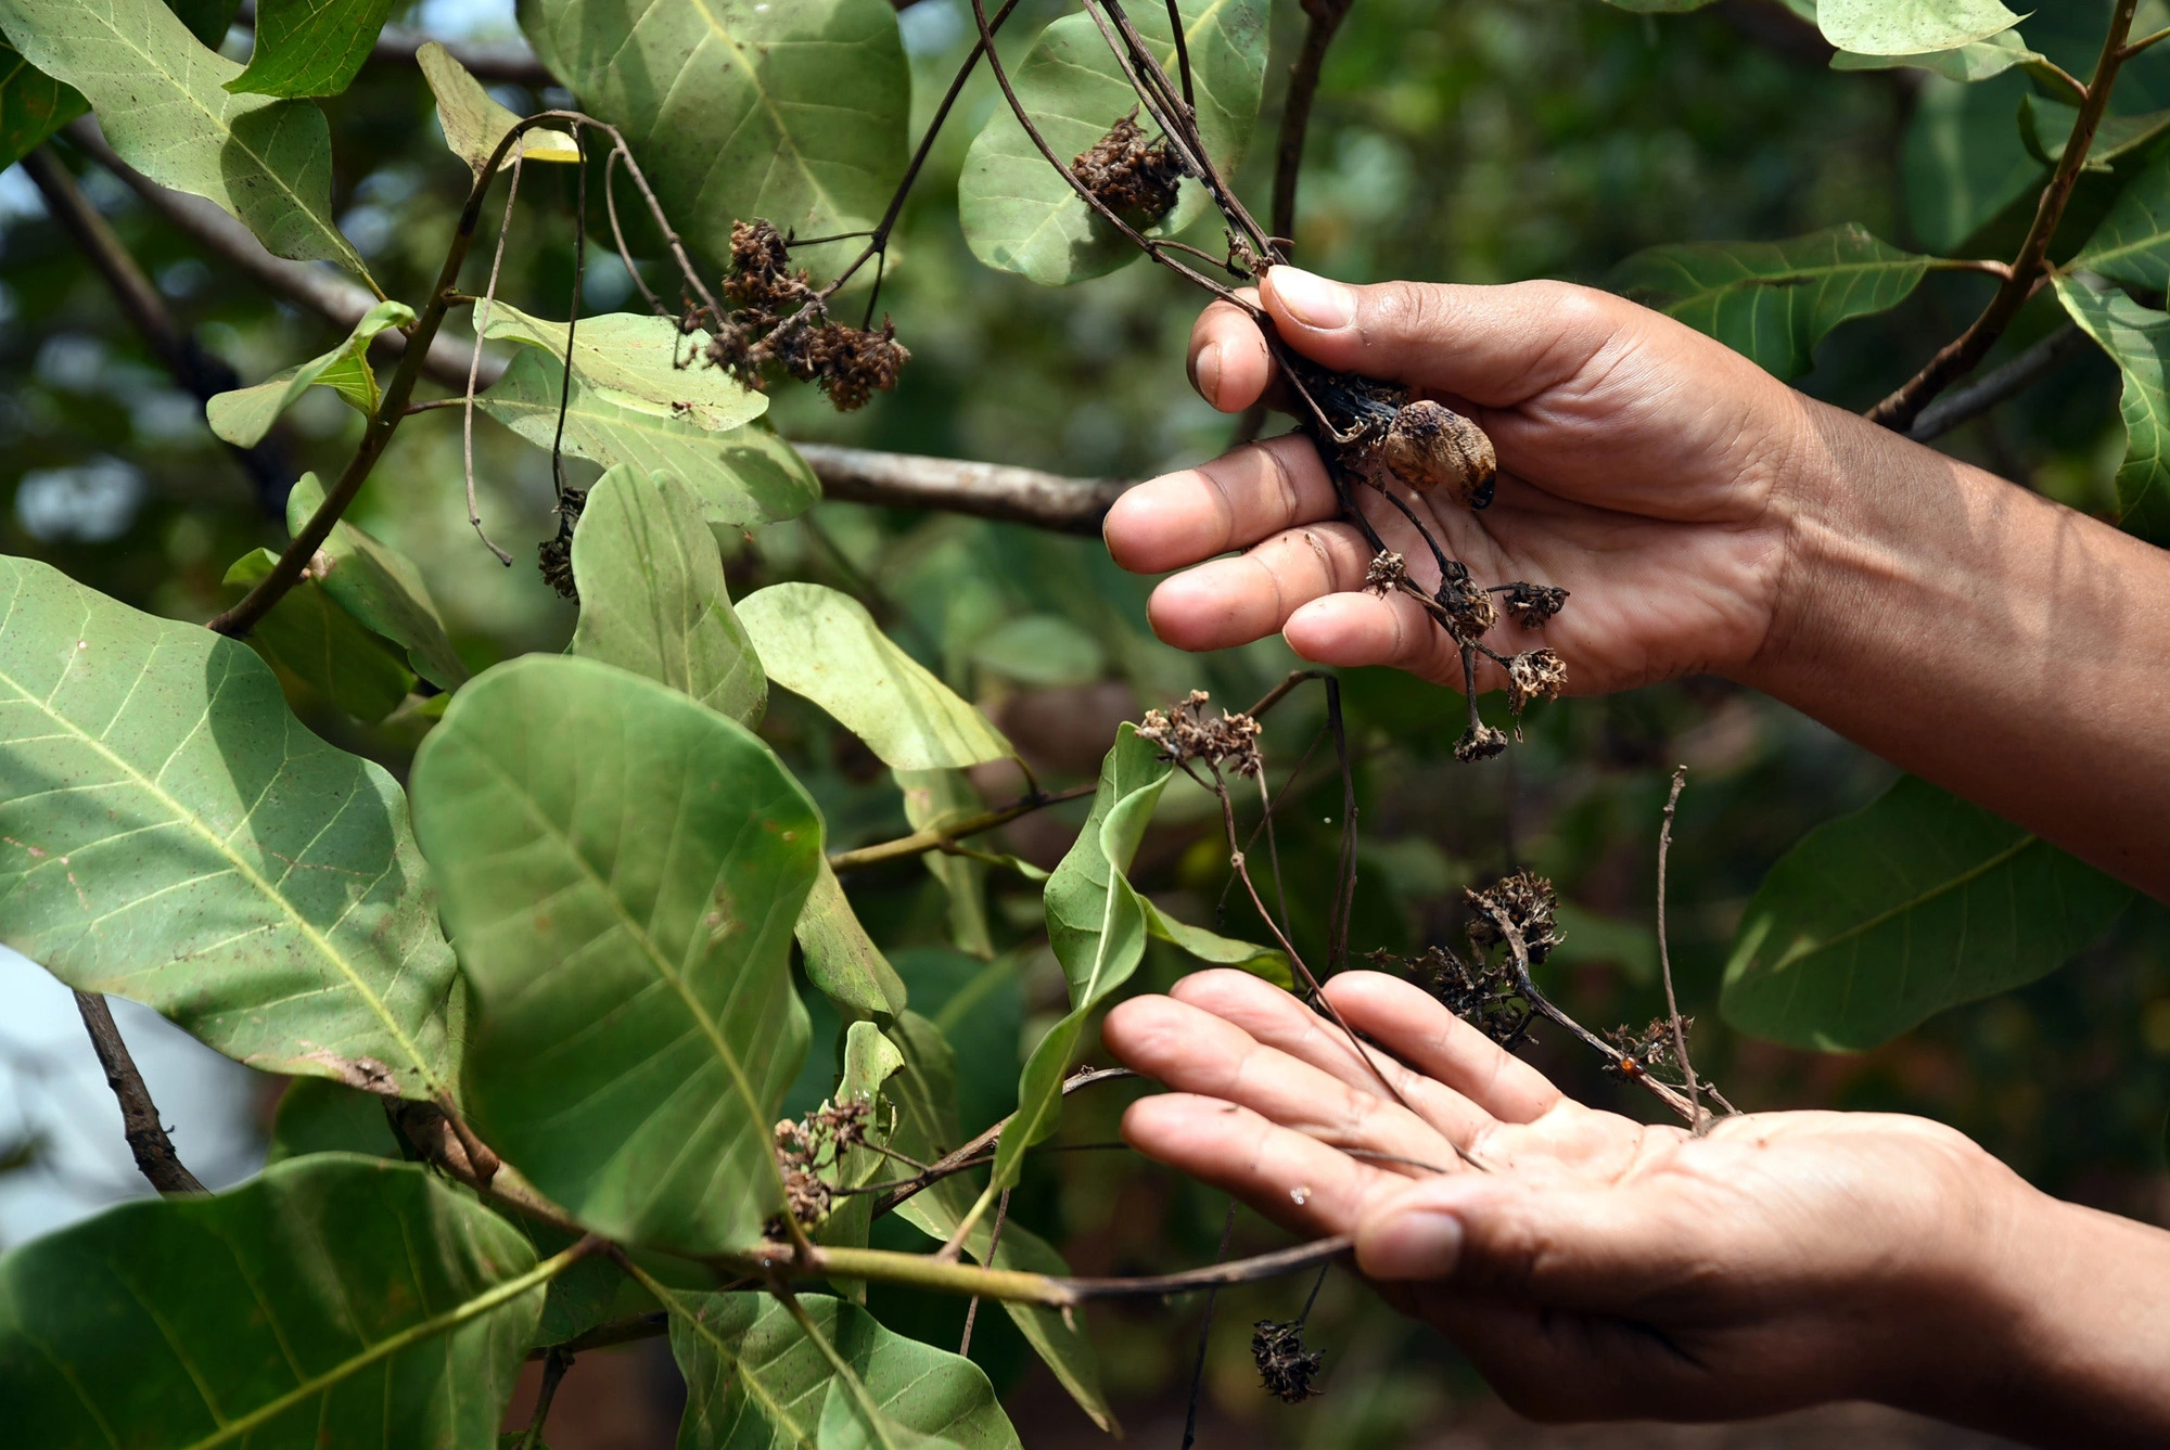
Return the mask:
[(879, 330), (829, 319), (829, 300), (803, 267), (790, 265), (790, 243), (768, 221), (731, 226), (731, 271), (723, 280), (731, 315), (716, 326), (707, 360), (749, 389), (766, 384), (770, 367), (814, 382), (838, 412), (866, 406), (896, 386), (911, 354), (883, 317)]

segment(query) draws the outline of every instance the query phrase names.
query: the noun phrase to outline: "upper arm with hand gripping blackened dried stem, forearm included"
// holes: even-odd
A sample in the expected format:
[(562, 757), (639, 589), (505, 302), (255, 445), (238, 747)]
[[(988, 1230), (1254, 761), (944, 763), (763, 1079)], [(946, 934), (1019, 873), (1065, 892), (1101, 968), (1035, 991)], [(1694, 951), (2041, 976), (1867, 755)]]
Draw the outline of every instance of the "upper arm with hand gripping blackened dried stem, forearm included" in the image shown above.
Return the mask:
[[(1543, 634), (1571, 690), (1738, 679), (2170, 899), (2170, 554), (1606, 293), (1276, 269), (1261, 300), (1291, 347), (1493, 436), (1495, 504), (1430, 512), (1480, 582), (1573, 590)], [(1226, 304), (1200, 319), (1191, 373), (1224, 410), (1274, 382)], [(1174, 645), (1280, 629), (1322, 664), (1458, 686), (1458, 653), (1415, 601), (1363, 593), (1371, 551), (1337, 514), (1291, 436), (1133, 488), (1107, 540), (1131, 569), (1187, 569), (1152, 599)], [(1400, 514), (1380, 499), (1367, 514), (1430, 582)], [(1243, 554), (1213, 558), (1228, 549)], [(1504, 627), (1502, 647), (1534, 643)]]

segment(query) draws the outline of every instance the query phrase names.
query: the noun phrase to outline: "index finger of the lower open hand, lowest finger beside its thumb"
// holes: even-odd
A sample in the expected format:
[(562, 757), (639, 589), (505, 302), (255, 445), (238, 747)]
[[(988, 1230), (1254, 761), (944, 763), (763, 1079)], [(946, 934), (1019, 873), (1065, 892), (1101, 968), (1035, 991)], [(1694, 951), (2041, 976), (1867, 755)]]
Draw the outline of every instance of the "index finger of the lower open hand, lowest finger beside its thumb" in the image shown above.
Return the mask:
[(1365, 1209), (1408, 1187), (1237, 1103), (1167, 1092), (1139, 1098), (1122, 1135), (1150, 1159), (1235, 1194), (1282, 1229), (1350, 1233)]

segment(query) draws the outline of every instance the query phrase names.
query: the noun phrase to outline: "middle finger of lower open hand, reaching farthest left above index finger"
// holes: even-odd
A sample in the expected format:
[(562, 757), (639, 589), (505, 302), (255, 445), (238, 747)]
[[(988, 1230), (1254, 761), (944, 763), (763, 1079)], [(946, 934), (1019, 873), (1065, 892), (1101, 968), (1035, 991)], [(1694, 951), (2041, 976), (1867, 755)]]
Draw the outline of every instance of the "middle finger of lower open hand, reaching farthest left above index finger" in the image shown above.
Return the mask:
[[(1239, 1103), (1337, 1148), (1404, 1159), (1404, 1168), (1445, 1170), (1454, 1163), (1454, 1148), (1439, 1129), (1400, 1103), (1352, 1088), (1187, 1003), (1133, 999), (1107, 1016), (1100, 1038), (1124, 1066), (1176, 1092)], [(1460, 1109), (1463, 1120), (1452, 1127), (1473, 1133), (1482, 1116), (1467, 1103)]]

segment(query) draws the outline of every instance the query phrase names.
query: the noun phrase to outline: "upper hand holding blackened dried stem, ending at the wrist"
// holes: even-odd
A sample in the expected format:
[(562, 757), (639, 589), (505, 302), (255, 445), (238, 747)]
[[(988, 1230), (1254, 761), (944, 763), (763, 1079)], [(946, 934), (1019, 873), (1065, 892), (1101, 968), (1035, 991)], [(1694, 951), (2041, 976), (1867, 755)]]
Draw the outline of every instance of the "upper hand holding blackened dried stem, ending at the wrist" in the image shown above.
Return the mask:
[[(1779, 616), (1790, 471), (1816, 454), (1805, 399), (1729, 347), (1621, 297), (1562, 282), (1343, 287), (1265, 274), (1280, 339), (1332, 369), (1408, 386), (1473, 417), (1499, 454), (1491, 508), (1402, 493), (1478, 584), (1573, 593), (1543, 634), (1502, 623), (1502, 649), (1547, 643), (1571, 692), (1745, 666)], [(1191, 378), (1224, 412), (1269, 389), (1256, 323), (1215, 302), (1191, 332)], [(1365, 514), (1410, 575), (1439, 571), (1408, 521)], [(1280, 629), (1319, 664), (1397, 664), (1460, 688), (1460, 653), (1406, 595), (1363, 593), (1371, 547), (1298, 434), (1150, 480), (1109, 510), (1124, 569), (1185, 569), (1152, 595), (1183, 649)], [(1243, 549), (1239, 558), (1213, 558)], [(1213, 562), (1202, 562), (1213, 560)], [(1486, 662), (1482, 684), (1502, 684)]]

